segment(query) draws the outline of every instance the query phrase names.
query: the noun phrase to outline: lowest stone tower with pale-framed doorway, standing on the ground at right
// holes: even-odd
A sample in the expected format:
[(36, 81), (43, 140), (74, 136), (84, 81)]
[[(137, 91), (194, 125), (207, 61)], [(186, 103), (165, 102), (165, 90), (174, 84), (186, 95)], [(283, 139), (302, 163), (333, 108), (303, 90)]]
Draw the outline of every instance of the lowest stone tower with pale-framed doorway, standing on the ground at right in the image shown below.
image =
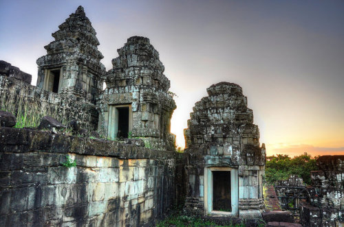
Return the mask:
[(237, 84), (220, 82), (197, 101), (184, 130), (185, 210), (202, 215), (259, 217), (264, 208), (265, 145)]

